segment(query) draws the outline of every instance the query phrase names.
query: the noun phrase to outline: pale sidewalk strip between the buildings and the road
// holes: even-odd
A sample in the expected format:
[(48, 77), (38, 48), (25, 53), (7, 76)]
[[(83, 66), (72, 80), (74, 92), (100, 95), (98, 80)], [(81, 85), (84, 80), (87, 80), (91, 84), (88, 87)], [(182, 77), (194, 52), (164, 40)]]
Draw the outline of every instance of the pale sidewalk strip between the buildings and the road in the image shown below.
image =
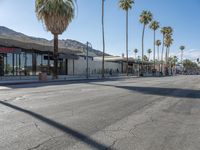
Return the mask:
[[(127, 78), (135, 78), (136, 76), (126, 76), (126, 75), (119, 75), (119, 76), (106, 76), (103, 80), (113, 80), (113, 79), (127, 79)], [(38, 80), (37, 76), (34, 78), (16, 78), (16, 79), (0, 79), (0, 86), (6, 85), (18, 85), (18, 84), (33, 84), (33, 83), (51, 83), (51, 82), (66, 82), (66, 81), (87, 81), (87, 80), (102, 80), (101, 76), (91, 76), (86, 78), (85, 76), (59, 76), (59, 79), (52, 79), (51, 76), (48, 76), (48, 80), (40, 81)]]

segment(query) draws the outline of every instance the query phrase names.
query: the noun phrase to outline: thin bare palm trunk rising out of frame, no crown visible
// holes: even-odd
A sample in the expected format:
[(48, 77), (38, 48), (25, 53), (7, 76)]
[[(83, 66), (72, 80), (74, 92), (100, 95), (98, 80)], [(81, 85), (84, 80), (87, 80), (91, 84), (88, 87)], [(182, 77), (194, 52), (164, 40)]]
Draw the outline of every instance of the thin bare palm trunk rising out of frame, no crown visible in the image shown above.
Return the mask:
[(104, 37), (104, 0), (102, 0), (102, 38), (103, 38), (103, 60), (102, 60), (102, 78), (104, 78), (104, 57), (105, 57), (105, 37)]

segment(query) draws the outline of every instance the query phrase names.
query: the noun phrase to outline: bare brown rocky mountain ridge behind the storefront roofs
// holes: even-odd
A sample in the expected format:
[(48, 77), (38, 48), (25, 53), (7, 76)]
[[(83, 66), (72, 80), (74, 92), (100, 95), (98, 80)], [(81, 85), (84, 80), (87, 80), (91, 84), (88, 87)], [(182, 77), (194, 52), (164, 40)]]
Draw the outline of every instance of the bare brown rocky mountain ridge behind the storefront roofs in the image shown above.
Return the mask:
[[(47, 40), (44, 38), (37, 38), (37, 37), (32, 37), (32, 36), (27, 36), (23, 33), (16, 32), (14, 30), (11, 30), (7, 27), (0, 26), (0, 41), (1, 40), (15, 40), (15, 41), (20, 41), (29, 44), (37, 44), (40, 46), (53, 46), (53, 40)], [(0, 42), (1, 43), (1, 42)], [(77, 50), (79, 51), (80, 55), (86, 55), (86, 45), (78, 42), (76, 40), (71, 40), (71, 39), (66, 39), (66, 40), (59, 40), (59, 47), (62, 47), (62, 49), (72, 49), (72, 50)], [(102, 56), (103, 53), (99, 50), (89, 48), (89, 56)], [(105, 54), (106, 56), (109, 56), (108, 54)]]

